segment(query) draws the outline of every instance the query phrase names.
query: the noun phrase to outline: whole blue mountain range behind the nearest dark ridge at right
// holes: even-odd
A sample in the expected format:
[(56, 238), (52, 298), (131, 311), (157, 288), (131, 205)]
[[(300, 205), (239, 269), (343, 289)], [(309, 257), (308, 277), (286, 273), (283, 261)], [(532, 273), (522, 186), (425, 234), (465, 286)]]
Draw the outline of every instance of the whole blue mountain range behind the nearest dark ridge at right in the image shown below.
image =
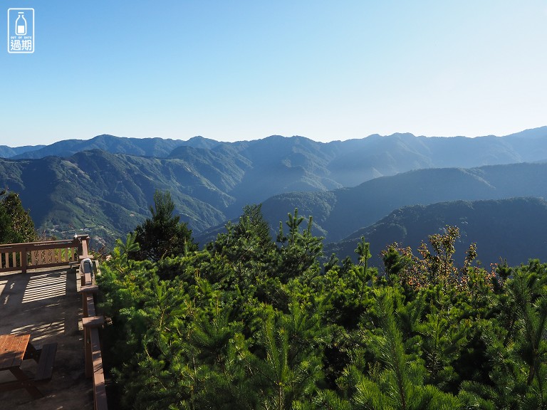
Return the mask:
[(200, 243), (246, 204), (262, 203), (272, 229), (298, 208), (330, 243), (402, 206), (542, 197), (547, 189), (547, 127), (504, 137), (394, 134), (328, 143), (100, 135), (0, 146), (0, 156), (0, 186), (19, 192), (39, 230), (66, 236), (85, 228), (106, 245), (149, 216), (155, 189), (171, 192)]

